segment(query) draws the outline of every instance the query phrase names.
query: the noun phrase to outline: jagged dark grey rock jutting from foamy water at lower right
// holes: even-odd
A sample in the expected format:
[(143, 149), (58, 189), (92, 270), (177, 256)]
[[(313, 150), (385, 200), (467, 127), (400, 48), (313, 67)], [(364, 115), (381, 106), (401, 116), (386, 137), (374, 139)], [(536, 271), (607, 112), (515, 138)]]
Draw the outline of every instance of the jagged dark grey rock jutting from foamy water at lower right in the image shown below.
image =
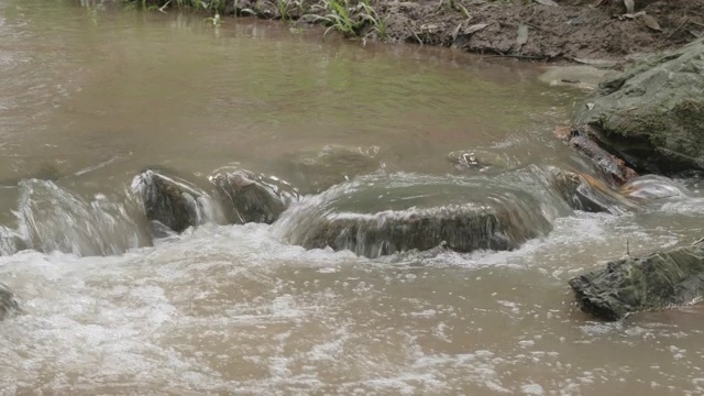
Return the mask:
[(704, 290), (704, 246), (695, 244), (614, 261), (569, 284), (580, 309), (605, 320), (689, 304)]

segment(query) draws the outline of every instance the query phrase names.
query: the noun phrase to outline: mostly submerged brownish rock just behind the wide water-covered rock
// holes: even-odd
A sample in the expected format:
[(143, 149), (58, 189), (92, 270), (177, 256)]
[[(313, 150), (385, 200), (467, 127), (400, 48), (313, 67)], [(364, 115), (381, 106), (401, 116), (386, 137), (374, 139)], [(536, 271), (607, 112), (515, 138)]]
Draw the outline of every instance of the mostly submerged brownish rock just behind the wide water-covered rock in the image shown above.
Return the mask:
[(355, 176), (377, 170), (380, 147), (326, 145), (315, 153), (302, 153), (287, 160), (292, 180), (302, 194), (319, 194)]

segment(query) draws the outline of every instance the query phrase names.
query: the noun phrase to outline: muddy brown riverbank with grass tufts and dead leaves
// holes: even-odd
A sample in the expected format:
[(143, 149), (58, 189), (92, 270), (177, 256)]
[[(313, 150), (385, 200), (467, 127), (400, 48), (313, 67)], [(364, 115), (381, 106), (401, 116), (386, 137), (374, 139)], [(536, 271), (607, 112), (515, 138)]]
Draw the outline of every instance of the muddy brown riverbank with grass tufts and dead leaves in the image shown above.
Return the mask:
[[(184, 0), (147, 0), (167, 11)], [(144, 4), (139, 1), (140, 4)], [(452, 46), (487, 56), (614, 67), (642, 53), (670, 50), (704, 34), (704, 0), (241, 0), (200, 3), (227, 16), (323, 24), (350, 37)], [(223, 20), (227, 20), (223, 18)]]

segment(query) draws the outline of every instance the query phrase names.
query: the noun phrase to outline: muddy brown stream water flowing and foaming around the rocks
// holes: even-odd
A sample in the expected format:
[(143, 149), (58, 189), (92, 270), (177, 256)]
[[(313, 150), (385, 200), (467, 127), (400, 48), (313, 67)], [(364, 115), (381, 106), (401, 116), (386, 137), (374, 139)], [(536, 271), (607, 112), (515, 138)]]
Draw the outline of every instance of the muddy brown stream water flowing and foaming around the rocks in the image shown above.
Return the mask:
[(646, 179), (653, 205), (620, 216), (534, 191), (552, 231), (510, 252), (305, 250), (286, 213), (152, 241), (130, 193), (151, 166), (295, 179), (287, 158), (334, 145), (400, 185), (462, 179), (458, 150), (588, 170), (552, 136), (582, 92), (537, 66), (321, 33), (0, 0), (0, 282), (24, 309), (0, 322), (0, 394), (704, 393), (701, 306), (602, 323), (566, 287), (627, 243), (701, 237), (693, 182)]

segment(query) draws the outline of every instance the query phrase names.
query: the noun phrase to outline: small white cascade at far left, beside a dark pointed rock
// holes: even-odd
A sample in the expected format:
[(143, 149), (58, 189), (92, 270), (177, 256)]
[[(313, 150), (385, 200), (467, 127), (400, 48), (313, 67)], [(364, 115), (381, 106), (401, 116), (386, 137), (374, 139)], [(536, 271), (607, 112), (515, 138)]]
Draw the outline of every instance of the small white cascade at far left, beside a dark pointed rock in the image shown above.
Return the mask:
[(76, 255), (121, 254), (151, 244), (142, 217), (124, 204), (98, 196), (86, 201), (53, 182), (23, 180), (18, 234), (28, 248)]

